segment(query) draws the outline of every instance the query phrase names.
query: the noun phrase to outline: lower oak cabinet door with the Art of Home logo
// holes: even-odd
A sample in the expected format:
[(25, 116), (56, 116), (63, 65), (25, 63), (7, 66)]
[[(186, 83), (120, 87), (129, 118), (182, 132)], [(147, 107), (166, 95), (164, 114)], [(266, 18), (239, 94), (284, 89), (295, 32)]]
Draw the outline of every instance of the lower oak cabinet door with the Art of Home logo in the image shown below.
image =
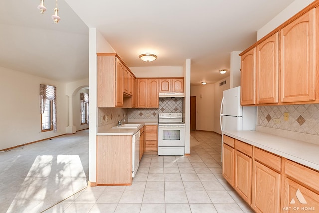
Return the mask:
[(318, 212), (319, 194), (302, 185), (284, 178), (281, 213), (308, 213)]

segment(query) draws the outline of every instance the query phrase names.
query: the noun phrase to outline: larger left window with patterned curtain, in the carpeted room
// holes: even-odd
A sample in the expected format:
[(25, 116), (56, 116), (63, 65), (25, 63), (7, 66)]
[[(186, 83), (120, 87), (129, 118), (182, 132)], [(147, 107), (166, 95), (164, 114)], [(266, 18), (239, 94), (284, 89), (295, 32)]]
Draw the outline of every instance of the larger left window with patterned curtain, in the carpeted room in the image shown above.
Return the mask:
[(56, 87), (40, 84), (41, 131), (57, 131)]

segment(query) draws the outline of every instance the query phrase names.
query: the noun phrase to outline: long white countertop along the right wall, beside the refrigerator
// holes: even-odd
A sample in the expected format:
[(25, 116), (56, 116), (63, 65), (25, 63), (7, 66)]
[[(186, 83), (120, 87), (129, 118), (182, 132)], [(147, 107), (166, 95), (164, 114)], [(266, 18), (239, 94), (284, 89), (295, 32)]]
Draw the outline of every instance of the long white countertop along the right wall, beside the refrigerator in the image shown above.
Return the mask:
[(319, 145), (259, 131), (223, 131), (223, 134), (319, 171)]

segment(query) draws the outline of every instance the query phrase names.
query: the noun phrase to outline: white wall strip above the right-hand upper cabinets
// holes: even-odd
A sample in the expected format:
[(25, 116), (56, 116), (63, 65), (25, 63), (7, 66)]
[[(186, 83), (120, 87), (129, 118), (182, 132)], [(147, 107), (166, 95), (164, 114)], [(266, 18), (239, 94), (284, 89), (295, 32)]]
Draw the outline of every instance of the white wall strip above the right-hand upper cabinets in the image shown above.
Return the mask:
[(257, 31), (257, 40), (273, 31), (280, 24), (297, 14), (300, 10), (308, 6), (314, 0), (295, 0), (288, 7), (286, 7), (281, 13), (269, 21), (265, 26)]

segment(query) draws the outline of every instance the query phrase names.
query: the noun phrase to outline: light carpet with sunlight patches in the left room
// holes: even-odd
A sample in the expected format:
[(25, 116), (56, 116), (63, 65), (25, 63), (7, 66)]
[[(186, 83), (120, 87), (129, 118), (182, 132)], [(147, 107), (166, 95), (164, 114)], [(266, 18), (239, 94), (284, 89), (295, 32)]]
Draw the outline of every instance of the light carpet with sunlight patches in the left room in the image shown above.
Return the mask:
[(39, 213), (87, 186), (89, 131), (0, 152), (0, 213)]

